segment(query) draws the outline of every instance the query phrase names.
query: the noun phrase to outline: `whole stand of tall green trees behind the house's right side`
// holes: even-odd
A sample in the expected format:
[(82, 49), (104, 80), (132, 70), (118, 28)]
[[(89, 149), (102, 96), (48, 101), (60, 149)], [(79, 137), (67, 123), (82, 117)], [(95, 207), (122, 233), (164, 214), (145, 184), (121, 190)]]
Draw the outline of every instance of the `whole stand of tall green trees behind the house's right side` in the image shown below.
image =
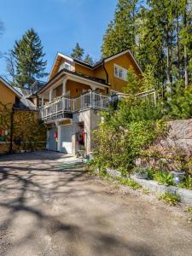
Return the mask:
[(190, 1), (119, 0), (103, 36), (102, 56), (125, 49), (132, 51), (143, 71), (150, 67), (155, 88), (161, 93), (164, 84), (169, 82), (174, 88), (177, 79), (185, 80), (188, 86), (192, 79)]

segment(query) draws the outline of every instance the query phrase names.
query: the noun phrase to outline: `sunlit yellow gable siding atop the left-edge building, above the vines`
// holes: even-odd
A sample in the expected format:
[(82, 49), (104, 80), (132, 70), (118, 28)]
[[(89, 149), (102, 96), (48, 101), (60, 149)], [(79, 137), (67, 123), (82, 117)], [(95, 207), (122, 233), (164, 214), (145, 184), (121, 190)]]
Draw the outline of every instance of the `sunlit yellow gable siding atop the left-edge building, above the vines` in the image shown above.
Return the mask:
[(3, 104), (14, 104), (15, 96), (15, 93), (0, 81), (0, 102)]

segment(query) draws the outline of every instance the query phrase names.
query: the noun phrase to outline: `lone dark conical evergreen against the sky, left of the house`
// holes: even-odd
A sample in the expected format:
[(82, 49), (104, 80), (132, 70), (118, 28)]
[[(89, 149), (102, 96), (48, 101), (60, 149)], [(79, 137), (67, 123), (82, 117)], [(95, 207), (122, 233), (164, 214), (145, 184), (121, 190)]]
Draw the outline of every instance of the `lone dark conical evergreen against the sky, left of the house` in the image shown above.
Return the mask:
[(17, 86), (30, 88), (36, 79), (47, 75), (44, 73), (47, 61), (43, 60), (43, 46), (37, 32), (32, 28), (19, 41), (15, 41), (12, 54), (16, 62)]

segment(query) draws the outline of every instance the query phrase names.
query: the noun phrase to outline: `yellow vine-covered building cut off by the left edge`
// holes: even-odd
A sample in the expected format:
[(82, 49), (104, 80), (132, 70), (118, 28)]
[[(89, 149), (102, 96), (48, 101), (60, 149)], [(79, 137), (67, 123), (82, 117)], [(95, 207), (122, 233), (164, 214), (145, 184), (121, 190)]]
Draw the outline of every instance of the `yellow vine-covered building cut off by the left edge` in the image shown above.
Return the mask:
[(31, 91), (11, 86), (0, 77), (0, 92), (0, 154), (43, 149), (44, 144), (39, 144), (45, 141), (44, 129), (38, 124), (39, 112)]

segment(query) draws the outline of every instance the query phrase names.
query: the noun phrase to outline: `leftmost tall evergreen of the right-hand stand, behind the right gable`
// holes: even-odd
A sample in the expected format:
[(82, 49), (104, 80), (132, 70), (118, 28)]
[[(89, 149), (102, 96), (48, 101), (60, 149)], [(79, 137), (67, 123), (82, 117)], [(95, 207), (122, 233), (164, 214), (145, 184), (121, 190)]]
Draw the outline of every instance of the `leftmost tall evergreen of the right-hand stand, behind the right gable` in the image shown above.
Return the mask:
[(137, 41), (138, 0), (119, 0), (114, 19), (103, 37), (102, 56), (114, 55), (125, 49), (134, 54)]

